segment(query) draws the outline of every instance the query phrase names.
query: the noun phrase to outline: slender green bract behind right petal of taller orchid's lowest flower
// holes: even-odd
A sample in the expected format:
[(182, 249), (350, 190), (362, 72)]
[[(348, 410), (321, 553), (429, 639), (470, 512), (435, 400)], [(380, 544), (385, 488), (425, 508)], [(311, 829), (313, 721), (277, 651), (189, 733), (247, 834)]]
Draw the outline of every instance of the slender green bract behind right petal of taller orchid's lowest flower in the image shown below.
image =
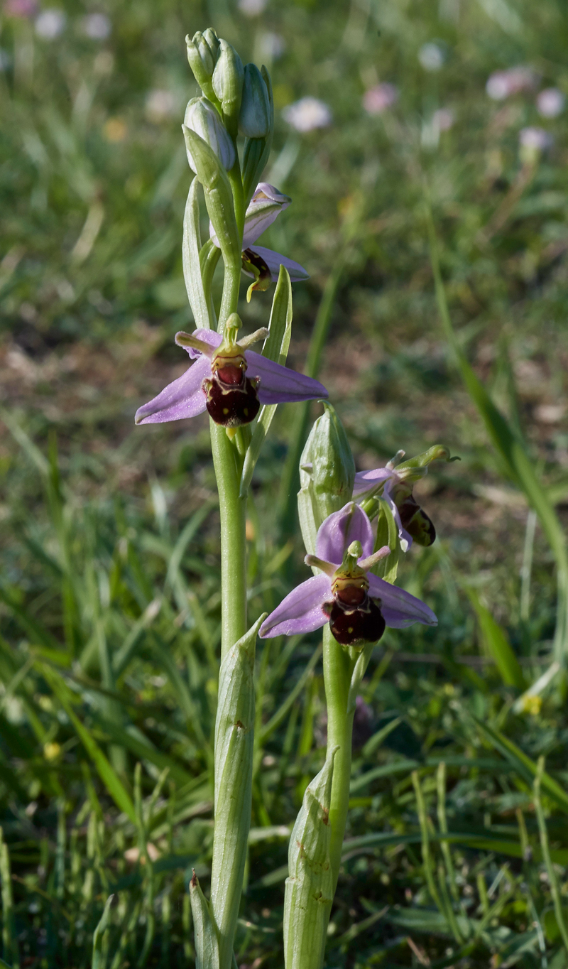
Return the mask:
[[(292, 285), (287, 269), (280, 267), (278, 283), (272, 300), (268, 336), (262, 347), (262, 356), (284, 365), (292, 331)], [(240, 497), (248, 494), (253, 480), (254, 467), (278, 404), (264, 404), (254, 427), (253, 437), (245, 455), (241, 475)]]

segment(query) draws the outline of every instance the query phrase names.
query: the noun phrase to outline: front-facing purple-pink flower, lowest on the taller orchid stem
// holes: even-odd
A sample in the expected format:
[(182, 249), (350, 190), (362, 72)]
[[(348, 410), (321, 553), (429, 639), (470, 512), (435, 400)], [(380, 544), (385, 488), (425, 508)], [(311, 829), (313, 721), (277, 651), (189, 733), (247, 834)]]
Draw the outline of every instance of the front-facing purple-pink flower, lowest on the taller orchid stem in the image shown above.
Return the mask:
[(254, 421), (260, 404), (327, 398), (319, 381), (248, 349), (268, 335), (267, 329), (257, 329), (237, 343), (240, 326), (240, 318), (232, 313), (224, 337), (212, 329), (176, 333), (175, 342), (195, 362), (162, 393), (138, 408), (135, 422), (180, 421), (207, 410), (216, 423), (236, 428)]

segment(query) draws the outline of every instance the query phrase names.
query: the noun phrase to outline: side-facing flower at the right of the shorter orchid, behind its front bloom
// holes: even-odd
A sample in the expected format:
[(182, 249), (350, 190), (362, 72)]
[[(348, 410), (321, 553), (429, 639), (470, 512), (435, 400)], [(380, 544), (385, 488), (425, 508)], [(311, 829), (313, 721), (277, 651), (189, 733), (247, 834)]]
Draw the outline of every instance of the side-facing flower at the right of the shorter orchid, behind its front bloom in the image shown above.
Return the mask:
[(399, 529), (399, 540), (403, 551), (408, 551), (414, 540), (420, 546), (431, 546), (435, 541), (435, 528), (432, 519), (420, 507), (412, 494), (412, 485), (424, 477), (427, 467), (403, 467), (396, 469), (404, 457), (404, 451), (395, 454), (384, 468), (373, 471), (359, 471), (353, 484), (355, 501), (365, 501), (378, 494), (388, 502)]

